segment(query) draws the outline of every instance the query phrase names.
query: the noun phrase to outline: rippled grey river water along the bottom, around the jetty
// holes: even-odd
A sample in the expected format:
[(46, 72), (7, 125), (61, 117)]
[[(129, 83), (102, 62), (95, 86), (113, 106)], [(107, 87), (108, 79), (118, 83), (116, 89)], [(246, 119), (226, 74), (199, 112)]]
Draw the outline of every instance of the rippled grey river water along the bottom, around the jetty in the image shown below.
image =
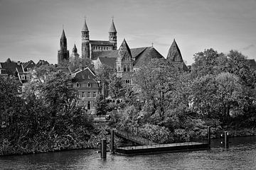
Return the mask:
[(100, 159), (94, 149), (0, 157), (0, 169), (256, 169), (256, 137), (230, 138), (223, 150), (213, 140), (210, 150)]

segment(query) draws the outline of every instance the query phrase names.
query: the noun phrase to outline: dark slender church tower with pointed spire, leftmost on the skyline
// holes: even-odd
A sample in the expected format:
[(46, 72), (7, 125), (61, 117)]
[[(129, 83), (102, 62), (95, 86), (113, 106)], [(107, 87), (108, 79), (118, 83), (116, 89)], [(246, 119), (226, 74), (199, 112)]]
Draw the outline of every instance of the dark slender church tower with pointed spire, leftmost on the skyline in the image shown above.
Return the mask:
[(62, 66), (65, 61), (69, 61), (69, 51), (67, 38), (65, 37), (65, 31), (63, 29), (63, 33), (60, 38), (60, 50), (58, 50), (58, 66)]

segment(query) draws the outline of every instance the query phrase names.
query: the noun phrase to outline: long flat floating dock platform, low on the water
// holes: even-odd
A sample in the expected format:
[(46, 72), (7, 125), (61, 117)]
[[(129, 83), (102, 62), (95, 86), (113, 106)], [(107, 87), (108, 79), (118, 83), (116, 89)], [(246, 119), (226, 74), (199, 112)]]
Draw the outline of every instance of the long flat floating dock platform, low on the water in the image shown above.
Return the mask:
[(164, 152), (183, 152), (210, 149), (206, 142), (181, 142), (163, 145), (142, 145), (132, 147), (117, 147), (115, 153), (123, 155), (156, 154)]

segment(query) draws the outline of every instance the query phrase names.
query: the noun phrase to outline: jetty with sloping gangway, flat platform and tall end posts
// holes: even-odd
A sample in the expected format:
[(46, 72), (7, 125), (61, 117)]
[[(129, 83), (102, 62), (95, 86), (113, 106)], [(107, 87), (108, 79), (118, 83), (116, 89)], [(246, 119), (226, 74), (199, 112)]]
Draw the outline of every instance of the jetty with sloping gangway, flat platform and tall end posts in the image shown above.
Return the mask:
[[(123, 154), (123, 155), (137, 155), (137, 154), (156, 154), (164, 152), (183, 152), (193, 150), (210, 149), (210, 127), (208, 127), (208, 137), (203, 139), (191, 140), (189, 142), (176, 142), (171, 144), (159, 145), (155, 142), (145, 140), (143, 137), (139, 137), (129, 132), (120, 130), (112, 130), (112, 153)], [(138, 146), (127, 146), (127, 147), (114, 147), (114, 134), (123, 137), (126, 140), (130, 140), (137, 143)]]

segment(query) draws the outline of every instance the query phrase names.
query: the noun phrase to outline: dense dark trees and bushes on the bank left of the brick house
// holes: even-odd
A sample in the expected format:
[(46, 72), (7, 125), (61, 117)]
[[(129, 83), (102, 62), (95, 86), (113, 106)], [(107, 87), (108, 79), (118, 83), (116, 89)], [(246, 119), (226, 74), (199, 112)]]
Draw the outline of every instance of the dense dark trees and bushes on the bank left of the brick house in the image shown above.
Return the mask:
[(33, 71), (23, 94), (13, 79), (1, 78), (0, 154), (51, 152), (91, 147), (92, 118), (76, 106), (68, 75), (53, 67)]

